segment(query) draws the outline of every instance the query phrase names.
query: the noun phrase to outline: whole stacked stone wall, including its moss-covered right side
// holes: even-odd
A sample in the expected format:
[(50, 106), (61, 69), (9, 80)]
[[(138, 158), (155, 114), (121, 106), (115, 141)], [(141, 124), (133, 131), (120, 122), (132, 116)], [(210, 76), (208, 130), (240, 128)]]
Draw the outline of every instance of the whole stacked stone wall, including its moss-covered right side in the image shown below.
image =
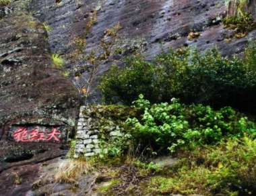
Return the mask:
[(75, 136), (74, 157), (94, 156), (104, 146), (123, 136), (125, 120), (135, 115), (135, 109), (120, 105), (82, 106)]

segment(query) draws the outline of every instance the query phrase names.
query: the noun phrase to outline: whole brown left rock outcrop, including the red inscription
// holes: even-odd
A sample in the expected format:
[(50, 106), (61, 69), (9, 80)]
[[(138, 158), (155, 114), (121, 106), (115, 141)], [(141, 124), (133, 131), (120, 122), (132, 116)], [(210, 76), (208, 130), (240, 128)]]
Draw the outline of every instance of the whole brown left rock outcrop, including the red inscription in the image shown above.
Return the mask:
[(25, 1), (0, 7), (0, 195), (26, 195), (38, 167), (67, 154), (79, 110), (77, 89), (53, 67), (44, 26)]

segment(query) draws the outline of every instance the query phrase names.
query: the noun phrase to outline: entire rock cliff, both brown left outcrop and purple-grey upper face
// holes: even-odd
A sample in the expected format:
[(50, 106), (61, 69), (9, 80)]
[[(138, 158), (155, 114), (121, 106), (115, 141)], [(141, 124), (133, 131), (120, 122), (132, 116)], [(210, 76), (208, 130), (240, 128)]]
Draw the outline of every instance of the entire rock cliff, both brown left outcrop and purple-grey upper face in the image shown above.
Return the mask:
[[(230, 56), (256, 38), (256, 30), (235, 38), (234, 30), (224, 28), (222, 0), (24, 0), (0, 6), (0, 195), (30, 193), (41, 162), (66, 154), (65, 141), (75, 128), (80, 104), (77, 90), (89, 76), (63, 77), (52, 66), (51, 54), (61, 54), (67, 70), (82, 66), (69, 54), (94, 11), (97, 21), (87, 38), (88, 50), (117, 23), (123, 54), (143, 46), (148, 58), (191, 45), (202, 52), (217, 46)], [(189, 38), (191, 32), (199, 34)], [(100, 64), (98, 77), (110, 64)], [(91, 102), (100, 98), (94, 90)], [(26, 181), (11, 183), (13, 173)]]

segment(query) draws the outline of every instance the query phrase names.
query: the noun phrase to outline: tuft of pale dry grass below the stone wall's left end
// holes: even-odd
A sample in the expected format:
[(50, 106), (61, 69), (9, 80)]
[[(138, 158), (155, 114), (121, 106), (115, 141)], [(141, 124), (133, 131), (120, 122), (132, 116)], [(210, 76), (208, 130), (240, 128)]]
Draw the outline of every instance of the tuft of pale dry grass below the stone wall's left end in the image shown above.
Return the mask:
[(57, 183), (75, 183), (79, 177), (86, 175), (92, 170), (92, 165), (82, 159), (67, 159), (59, 164), (55, 171), (55, 181)]

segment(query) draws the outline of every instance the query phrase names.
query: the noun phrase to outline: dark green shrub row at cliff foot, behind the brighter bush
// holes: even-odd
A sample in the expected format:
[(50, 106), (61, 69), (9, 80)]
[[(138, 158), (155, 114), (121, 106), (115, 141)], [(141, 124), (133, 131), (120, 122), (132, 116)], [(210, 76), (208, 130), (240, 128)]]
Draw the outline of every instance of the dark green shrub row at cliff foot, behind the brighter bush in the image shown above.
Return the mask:
[(170, 50), (152, 62), (131, 57), (122, 68), (110, 68), (99, 87), (108, 103), (130, 104), (142, 93), (152, 103), (177, 97), (185, 103), (254, 111), (256, 69), (251, 54), (255, 51), (252, 44), (244, 59), (224, 58), (216, 48), (204, 54), (194, 48)]

